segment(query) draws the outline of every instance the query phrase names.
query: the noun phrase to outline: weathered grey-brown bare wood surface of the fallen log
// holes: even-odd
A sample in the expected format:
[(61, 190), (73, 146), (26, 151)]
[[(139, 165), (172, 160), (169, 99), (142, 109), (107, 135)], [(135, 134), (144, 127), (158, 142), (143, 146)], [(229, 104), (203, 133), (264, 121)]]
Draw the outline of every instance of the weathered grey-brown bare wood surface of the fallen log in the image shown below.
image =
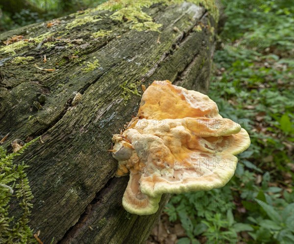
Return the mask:
[[(29, 45), (23, 42), (15, 53), (0, 52), (0, 133), (10, 132), (7, 148), (13, 139), (42, 136), (44, 143), (34, 142), (18, 161), (30, 165), (27, 174), (34, 195), (30, 226), (41, 231), (39, 238), (45, 244), (53, 237), (54, 244), (144, 244), (168, 199), (165, 195), (160, 210), (151, 216), (130, 215), (122, 208), (128, 177), (114, 178), (117, 162), (107, 149), (112, 134), (136, 115), (140, 97), (130, 93), (131, 99), (124, 100), (121, 85), (136, 82), (140, 91), (141, 84), (170, 80), (205, 92), (216, 22), (191, 2), (158, 3), (144, 11), (162, 24), (160, 33), (130, 29), (131, 23), (109, 18), (66, 28), (82, 14), (111, 14), (92, 11), (61, 18), (49, 29), (39, 24), (1, 34), (2, 41), (14, 34), (39, 37)], [(100, 29), (112, 32), (91, 38)], [(54, 36), (54, 42), (47, 36)], [(45, 46), (46, 42), (52, 45)], [(34, 59), (15, 64), (16, 56)], [(85, 72), (85, 64), (80, 66), (82, 62), (72, 56), (89, 62), (96, 57), (100, 66)], [(58, 70), (39, 70), (34, 64)], [(82, 94), (76, 105), (74, 92)], [(40, 98), (41, 94), (45, 96)], [(11, 208), (17, 215), (17, 207)]]

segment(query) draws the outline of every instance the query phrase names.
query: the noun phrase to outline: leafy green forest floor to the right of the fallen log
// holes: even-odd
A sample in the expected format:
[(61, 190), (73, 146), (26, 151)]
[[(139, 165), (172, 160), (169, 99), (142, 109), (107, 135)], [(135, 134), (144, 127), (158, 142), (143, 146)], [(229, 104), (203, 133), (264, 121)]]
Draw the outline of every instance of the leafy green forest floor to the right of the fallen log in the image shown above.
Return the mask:
[(251, 145), (225, 187), (173, 195), (147, 244), (294, 243), (294, 4), (224, 2), (208, 95)]

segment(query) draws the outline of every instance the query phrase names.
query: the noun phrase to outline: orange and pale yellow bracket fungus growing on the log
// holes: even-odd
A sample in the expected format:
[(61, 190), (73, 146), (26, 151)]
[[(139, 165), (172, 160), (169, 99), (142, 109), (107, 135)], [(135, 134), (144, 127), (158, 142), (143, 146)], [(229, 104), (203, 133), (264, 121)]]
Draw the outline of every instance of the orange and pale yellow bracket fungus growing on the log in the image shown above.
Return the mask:
[(234, 175), (234, 155), (250, 145), (208, 96), (170, 81), (147, 88), (138, 116), (112, 140), (116, 176), (130, 175), (123, 207), (137, 215), (154, 214), (164, 193), (223, 187)]

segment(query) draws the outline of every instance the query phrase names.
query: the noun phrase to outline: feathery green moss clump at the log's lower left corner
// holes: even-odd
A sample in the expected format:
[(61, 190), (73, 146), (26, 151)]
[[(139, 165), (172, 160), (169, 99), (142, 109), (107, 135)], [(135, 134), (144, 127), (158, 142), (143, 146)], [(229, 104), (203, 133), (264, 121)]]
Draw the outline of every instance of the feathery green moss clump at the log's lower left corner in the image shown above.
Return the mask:
[[(39, 137), (38, 137), (39, 138)], [(25, 148), (38, 138), (26, 143), (16, 153), (7, 154), (0, 147), (0, 240), (5, 244), (36, 243), (29, 223), (33, 199), (29, 182), (26, 177), (24, 163), (14, 163), (16, 156), (21, 155)], [(10, 213), (11, 198), (15, 198), (21, 209), (21, 216), (15, 218)], [(10, 217), (13, 216), (13, 217)]]

